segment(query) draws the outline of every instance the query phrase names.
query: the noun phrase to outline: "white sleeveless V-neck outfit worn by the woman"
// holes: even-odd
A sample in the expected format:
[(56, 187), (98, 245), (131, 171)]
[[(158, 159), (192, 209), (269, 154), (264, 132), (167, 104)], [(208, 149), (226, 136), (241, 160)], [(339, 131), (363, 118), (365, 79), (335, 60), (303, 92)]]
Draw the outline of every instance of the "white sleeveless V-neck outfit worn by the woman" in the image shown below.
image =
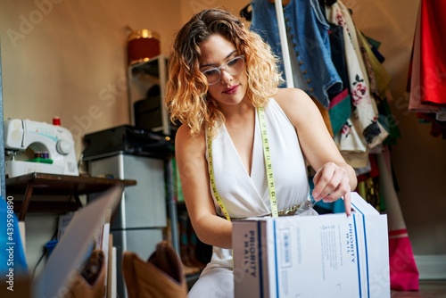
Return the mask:
[[(264, 110), (276, 187), (277, 210), (282, 211), (307, 199), (309, 182), (293, 124), (272, 98)], [(244, 164), (225, 125), (219, 128), (218, 135), (212, 140), (211, 145), (215, 185), (229, 216), (243, 219), (270, 214), (268, 181), (257, 111), (251, 176), (244, 169)], [(206, 156), (208, 156), (207, 151)], [(212, 197), (217, 213), (222, 215), (215, 195), (212, 194)], [(232, 252), (214, 246), (211, 263), (203, 273), (213, 267), (222, 266), (232, 269)]]

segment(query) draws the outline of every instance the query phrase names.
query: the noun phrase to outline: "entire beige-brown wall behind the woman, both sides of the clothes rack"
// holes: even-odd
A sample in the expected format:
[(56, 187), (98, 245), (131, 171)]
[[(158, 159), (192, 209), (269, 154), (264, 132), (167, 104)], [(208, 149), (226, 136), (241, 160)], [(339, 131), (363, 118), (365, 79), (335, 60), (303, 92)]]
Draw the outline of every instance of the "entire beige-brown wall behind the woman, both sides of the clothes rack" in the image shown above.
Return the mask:
[[(446, 142), (407, 112), (405, 85), (419, 0), (349, 0), (359, 29), (383, 42), (392, 74), (392, 113), (401, 139), (392, 161), (401, 208), (416, 254), (446, 254)], [(126, 38), (129, 25), (161, 33), (161, 52), (193, 12), (239, 0), (3, 0), (0, 34), (4, 117), (51, 121), (61, 116), (79, 155), (81, 137), (128, 123)], [(45, 239), (46, 240), (46, 239)]]

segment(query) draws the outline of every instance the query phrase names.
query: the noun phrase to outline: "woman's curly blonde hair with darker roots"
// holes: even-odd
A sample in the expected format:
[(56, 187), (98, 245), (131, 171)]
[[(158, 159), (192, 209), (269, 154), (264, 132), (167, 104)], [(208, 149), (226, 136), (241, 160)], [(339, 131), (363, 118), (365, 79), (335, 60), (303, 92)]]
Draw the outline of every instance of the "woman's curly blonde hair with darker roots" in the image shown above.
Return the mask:
[(208, 95), (208, 82), (200, 71), (200, 45), (219, 34), (244, 54), (248, 87), (246, 96), (255, 107), (264, 106), (282, 82), (277, 57), (259, 35), (246, 29), (244, 22), (222, 9), (195, 14), (178, 31), (169, 57), (166, 105), (170, 120), (186, 124), (192, 135), (208, 129), (215, 136), (225, 117)]

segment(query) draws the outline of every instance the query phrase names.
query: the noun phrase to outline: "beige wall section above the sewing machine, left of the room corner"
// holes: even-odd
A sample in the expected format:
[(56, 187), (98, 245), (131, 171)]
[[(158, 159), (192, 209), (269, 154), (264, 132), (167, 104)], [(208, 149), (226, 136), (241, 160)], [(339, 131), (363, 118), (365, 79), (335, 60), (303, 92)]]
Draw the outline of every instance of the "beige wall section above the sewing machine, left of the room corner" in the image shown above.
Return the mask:
[(0, 29), (4, 118), (51, 122), (81, 137), (128, 123), (128, 30), (161, 34), (161, 52), (180, 23), (179, 0), (4, 0)]

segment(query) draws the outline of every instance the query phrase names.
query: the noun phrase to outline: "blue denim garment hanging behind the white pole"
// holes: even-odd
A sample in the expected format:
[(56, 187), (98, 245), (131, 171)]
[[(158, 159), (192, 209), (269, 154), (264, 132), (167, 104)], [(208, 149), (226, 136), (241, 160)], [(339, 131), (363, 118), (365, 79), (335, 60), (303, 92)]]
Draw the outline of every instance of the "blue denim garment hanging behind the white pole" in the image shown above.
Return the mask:
[[(296, 54), (290, 58), (297, 60), (306, 83), (302, 85), (306, 87), (304, 91), (328, 108), (328, 90), (330, 93), (341, 92), (343, 82), (331, 58), (330, 26), (318, 0), (291, 0), (284, 7), (284, 18), (288, 37), (293, 41), (293, 45), (288, 46), (293, 46)], [(251, 29), (271, 46), (274, 54), (283, 57), (275, 4), (268, 0), (252, 0)], [(279, 70), (284, 72), (282, 61), (279, 62)]]

